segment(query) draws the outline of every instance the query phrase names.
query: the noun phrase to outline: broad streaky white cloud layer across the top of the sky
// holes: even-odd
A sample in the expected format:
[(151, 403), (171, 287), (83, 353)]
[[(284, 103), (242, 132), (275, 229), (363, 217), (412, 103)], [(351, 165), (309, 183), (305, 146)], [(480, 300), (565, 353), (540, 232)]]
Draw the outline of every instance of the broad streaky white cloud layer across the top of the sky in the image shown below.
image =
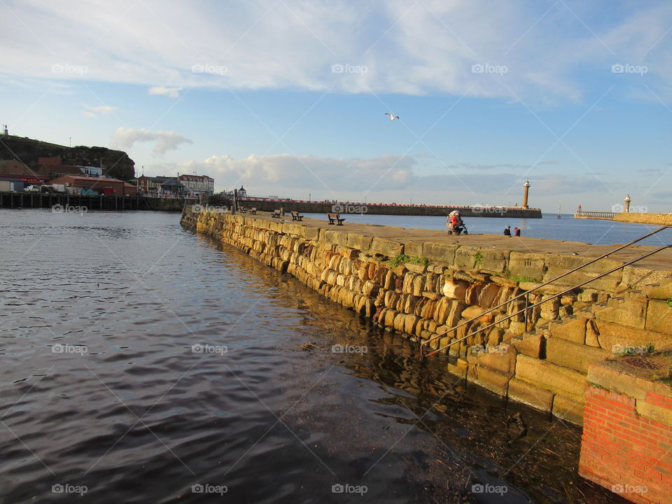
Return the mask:
[[(25, 0), (12, 5), (21, 22), (0, 17), (0, 72), (81, 79), (52, 66), (85, 68), (87, 79), (154, 86), (150, 92), (170, 97), (188, 86), (283, 87), (551, 102), (580, 99), (596, 80), (627, 88), (610, 67), (629, 63), (647, 65), (647, 85), (665, 97), (672, 92), (672, 36), (666, 36), (672, 4), (619, 9), (570, 0), (552, 6), (374, 0), (363, 7), (350, 0), (169, 8), (159, 0)], [(101, 26), (118, 29), (101, 33)], [(478, 73), (475, 64), (507, 71)], [(332, 71), (334, 65), (340, 71)], [(587, 72), (600, 77), (585, 78)]]

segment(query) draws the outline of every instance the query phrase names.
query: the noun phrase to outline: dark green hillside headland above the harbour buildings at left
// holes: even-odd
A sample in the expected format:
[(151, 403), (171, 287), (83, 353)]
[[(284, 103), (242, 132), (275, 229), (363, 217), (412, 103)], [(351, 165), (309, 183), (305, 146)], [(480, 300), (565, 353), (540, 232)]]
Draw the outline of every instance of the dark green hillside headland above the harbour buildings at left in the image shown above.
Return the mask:
[(18, 160), (35, 169), (38, 158), (43, 157), (59, 157), (64, 165), (102, 166), (104, 174), (125, 181), (135, 176), (135, 162), (123, 151), (106, 147), (67, 147), (14, 135), (0, 137), (0, 160)]

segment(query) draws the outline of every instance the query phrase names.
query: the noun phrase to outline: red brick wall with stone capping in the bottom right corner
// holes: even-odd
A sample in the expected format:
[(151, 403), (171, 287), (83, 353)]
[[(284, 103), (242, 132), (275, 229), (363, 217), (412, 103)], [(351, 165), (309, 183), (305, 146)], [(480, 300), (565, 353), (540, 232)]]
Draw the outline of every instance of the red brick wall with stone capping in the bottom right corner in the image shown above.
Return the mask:
[(635, 503), (672, 503), (670, 389), (625, 368), (591, 365), (579, 474)]

